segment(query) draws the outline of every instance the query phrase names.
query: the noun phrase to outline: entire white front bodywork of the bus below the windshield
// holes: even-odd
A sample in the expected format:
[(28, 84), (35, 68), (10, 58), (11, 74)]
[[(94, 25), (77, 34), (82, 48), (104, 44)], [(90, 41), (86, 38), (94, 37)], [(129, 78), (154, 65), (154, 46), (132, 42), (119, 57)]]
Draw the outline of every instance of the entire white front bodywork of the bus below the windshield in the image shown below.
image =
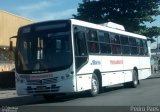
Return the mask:
[[(73, 67), (42, 74), (17, 74), (16, 89), (18, 95), (52, 94), (76, 92), (76, 77)], [(27, 78), (26, 78), (27, 77)]]

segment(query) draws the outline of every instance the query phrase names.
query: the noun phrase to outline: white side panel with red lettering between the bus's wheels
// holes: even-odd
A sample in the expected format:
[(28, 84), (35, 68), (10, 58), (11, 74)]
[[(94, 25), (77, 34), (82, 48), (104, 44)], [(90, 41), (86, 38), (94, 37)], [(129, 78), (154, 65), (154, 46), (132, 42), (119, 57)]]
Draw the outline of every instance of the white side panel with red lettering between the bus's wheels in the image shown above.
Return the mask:
[(124, 83), (122, 56), (102, 56), (102, 86)]

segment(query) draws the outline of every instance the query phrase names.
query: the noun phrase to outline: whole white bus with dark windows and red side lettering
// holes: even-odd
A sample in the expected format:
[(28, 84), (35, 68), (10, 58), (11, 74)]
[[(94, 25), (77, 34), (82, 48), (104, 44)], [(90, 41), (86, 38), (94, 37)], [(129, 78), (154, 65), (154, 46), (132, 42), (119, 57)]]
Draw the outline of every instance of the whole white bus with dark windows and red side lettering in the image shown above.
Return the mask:
[(145, 36), (80, 20), (23, 26), (15, 52), (18, 95), (87, 91), (115, 84), (137, 87), (151, 75)]

